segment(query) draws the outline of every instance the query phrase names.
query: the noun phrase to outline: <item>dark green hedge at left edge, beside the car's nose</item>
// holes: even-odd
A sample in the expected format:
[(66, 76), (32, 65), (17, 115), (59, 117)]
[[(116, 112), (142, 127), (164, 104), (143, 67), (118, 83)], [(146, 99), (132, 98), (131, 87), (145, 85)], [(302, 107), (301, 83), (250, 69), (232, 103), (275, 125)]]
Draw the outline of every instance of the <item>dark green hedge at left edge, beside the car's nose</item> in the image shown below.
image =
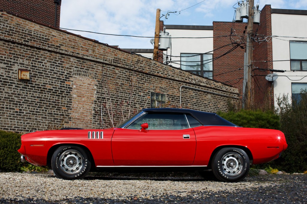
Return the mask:
[(16, 172), (22, 166), (20, 161), (21, 134), (0, 130), (0, 170), (2, 172)]

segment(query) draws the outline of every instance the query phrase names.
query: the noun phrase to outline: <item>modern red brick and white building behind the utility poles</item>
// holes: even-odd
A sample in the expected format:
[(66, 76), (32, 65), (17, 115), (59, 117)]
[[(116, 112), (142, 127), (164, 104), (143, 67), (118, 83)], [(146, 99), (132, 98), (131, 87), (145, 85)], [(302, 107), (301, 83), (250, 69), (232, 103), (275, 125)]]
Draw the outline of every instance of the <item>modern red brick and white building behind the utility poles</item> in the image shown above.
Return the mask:
[[(290, 19), (293, 19), (292, 22), (286, 22), (285, 25), (282, 25), (282, 20), (277, 20), (272, 22), (272, 15), (280, 15), (283, 18), (287, 18), (289, 16)], [(265, 76), (268, 74), (272, 74), (273, 72), (270, 70), (280, 70), (283, 67), (284, 70), (290, 70), (290, 63), (286, 62), (285, 59), (290, 59), (289, 56), (289, 44), (281, 46), (282, 43), (278, 42), (278, 39), (267, 38), (264, 39), (265, 36), (272, 36), (272, 32), (284, 32), (282, 30), (283, 26), (287, 27), (297, 27), (299, 30), (299, 23), (296, 25), (296, 21), (304, 21), (302, 17), (307, 16), (307, 11), (305, 10), (288, 10), (288, 9), (271, 9), (270, 5), (265, 5), (261, 10), (260, 15), (260, 24), (254, 24), (253, 31), (251, 32), (251, 36), (253, 37), (253, 68), (252, 68), (252, 76), (251, 76), (251, 106), (255, 109), (270, 109), (274, 107), (274, 102), (276, 105), (276, 96), (279, 94), (283, 94), (283, 89), (287, 89), (286, 93), (291, 94), (291, 80), (289, 79), (287, 82), (287, 87), (284, 87), (280, 82), (281, 80), (285, 80), (285, 77), (290, 73), (280, 77), (279, 87), (277, 87), (277, 81), (268, 81)], [(297, 19), (296, 19), (297, 18)], [(299, 20), (298, 20), (299, 19)], [(272, 28), (272, 24), (275, 23), (275, 27)], [(161, 27), (161, 24), (160, 24)], [(220, 22), (213, 21), (213, 26), (194, 26), (194, 25), (165, 25), (167, 32), (169, 32), (172, 36), (175, 37), (207, 37), (207, 39), (212, 38), (212, 42), (204, 39), (197, 39), (194, 42), (191, 41), (187, 45), (186, 39), (172, 39), (172, 60), (175, 60), (169, 64), (178, 68), (185, 68), (182, 66), (181, 62), (181, 54), (190, 53), (194, 54), (213, 54), (213, 74), (212, 79), (216, 81), (220, 81), (224, 84), (234, 86), (238, 88), (242, 103), (243, 96), (243, 83), (244, 82), (244, 53), (246, 51), (246, 42), (247, 42), (247, 23), (236, 23), (236, 22)], [(280, 30), (279, 30), (280, 29)], [(295, 28), (296, 29), (296, 28)], [(292, 30), (295, 30), (292, 28)], [(211, 33), (211, 32), (212, 33)], [(303, 31), (301, 31), (303, 32)], [(283, 34), (278, 33), (280, 36)], [(298, 31), (296, 31), (298, 33)], [(288, 36), (296, 36), (295, 34), (288, 34)], [(264, 36), (264, 37), (263, 37)], [(303, 39), (305, 35), (298, 37), (302, 37)], [(263, 37), (263, 38), (262, 38)], [(275, 47), (280, 47), (280, 49), (284, 50), (282, 55), (276, 54), (275, 59), (284, 62), (275, 62), (273, 58), (273, 42), (275, 40)], [(289, 40), (289, 37), (283, 39), (284, 42)], [(291, 40), (298, 41), (297, 38), (293, 37)], [(202, 46), (199, 46), (202, 45)], [(212, 48), (211, 48), (212, 46)], [(287, 48), (283, 48), (287, 47)], [(278, 49), (278, 48), (276, 48)], [(125, 49), (127, 51), (135, 52), (141, 54), (143, 56), (150, 57), (152, 50), (151, 49)], [(275, 51), (275, 53), (277, 53)], [(166, 51), (164, 54), (167, 55)], [(179, 56), (179, 57), (175, 57)], [(196, 63), (196, 62), (195, 62)], [(274, 67), (273, 67), (274, 65)], [(276, 74), (276, 73), (275, 73)], [(282, 74), (279, 74), (282, 75)], [(291, 79), (294, 77), (289, 75)], [(304, 73), (302, 74), (304, 76)], [(286, 79), (287, 80), (287, 79)], [(294, 81), (299, 83), (305, 83), (305, 81), (301, 81), (299, 78)], [(290, 86), (289, 86), (290, 84)], [(278, 88), (278, 90), (276, 89)], [(290, 88), (289, 88), (290, 87)], [(274, 98), (275, 97), (275, 98)], [(291, 101), (290, 101), (291, 102)]]

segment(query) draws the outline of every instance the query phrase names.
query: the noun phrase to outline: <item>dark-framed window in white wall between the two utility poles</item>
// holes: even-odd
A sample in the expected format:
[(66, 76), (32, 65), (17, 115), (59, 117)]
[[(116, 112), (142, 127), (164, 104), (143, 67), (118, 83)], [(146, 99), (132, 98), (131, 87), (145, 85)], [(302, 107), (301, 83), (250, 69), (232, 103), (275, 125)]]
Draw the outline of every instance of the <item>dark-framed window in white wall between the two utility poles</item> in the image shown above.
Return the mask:
[(181, 53), (181, 69), (212, 79), (212, 54)]

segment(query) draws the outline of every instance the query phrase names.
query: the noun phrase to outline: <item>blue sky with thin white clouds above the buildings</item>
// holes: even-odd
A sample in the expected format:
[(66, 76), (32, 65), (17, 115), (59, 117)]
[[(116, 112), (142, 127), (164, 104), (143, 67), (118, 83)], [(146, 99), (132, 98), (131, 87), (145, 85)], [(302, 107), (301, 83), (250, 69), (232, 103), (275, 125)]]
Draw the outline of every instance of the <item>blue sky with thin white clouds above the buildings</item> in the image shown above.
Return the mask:
[[(233, 21), (237, 3), (238, 0), (63, 0), (60, 28), (153, 37), (157, 9), (161, 9), (160, 20), (165, 25), (212, 25), (213, 21)], [(254, 4), (259, 4), (260, 10), (266, 4), (274, 9), (307, 10), (307, 0), (254, 0)], [(169, 13), (166, 19), (168, 12), (175, 13)], [(153, 48), (151, 38), (67, 31), (123, 49)]]

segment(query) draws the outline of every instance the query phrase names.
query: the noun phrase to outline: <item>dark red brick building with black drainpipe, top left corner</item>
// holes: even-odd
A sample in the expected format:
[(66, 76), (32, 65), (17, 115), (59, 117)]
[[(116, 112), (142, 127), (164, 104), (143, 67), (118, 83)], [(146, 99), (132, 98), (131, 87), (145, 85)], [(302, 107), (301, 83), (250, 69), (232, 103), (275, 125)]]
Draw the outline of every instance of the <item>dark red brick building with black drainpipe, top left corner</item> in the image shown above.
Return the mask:
[[(57, 6), (56, 27), (60, 27), (61, 0)], [(54, 26), (54, 0), (0, 0), (0, 10)]]

